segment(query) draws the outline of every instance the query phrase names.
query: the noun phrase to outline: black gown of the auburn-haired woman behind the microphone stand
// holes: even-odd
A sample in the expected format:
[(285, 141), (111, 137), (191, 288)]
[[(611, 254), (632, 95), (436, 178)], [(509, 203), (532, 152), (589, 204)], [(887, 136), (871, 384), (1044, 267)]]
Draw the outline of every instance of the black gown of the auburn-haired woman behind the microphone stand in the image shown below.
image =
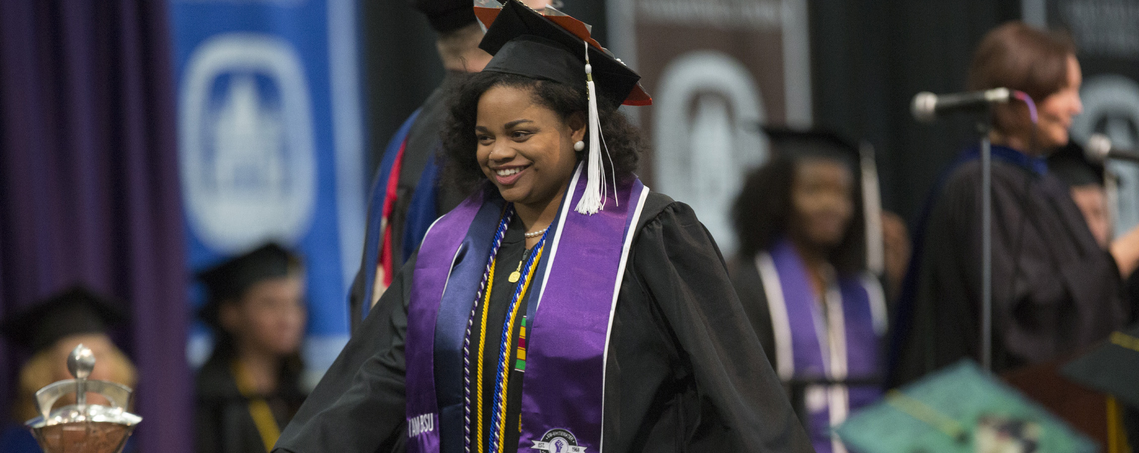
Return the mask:
[[(980, 162), (961, 164), (924, 220), (892, 385), (980, 357)], [(1115, 261), (1096, 245), (1067, 187), (994, 154), (992, 193), (993, 371), (1056, 360), (1123, 327), (1129, 310)]]

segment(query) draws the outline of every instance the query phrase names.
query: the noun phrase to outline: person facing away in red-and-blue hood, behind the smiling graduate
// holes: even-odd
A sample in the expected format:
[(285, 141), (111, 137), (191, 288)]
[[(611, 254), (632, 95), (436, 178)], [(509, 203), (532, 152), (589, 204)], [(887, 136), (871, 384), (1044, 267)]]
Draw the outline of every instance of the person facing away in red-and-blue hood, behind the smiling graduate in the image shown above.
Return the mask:
[[(415, 252), (427, 228), (462, 201), (462, 193), (440, 183), (435, 162), (440, 131), (446, 121), (448, 94), (462, 74), (482, 71), (491, 56), (478, 48), (483, 28), (470, 0), (411, 0), (435, 31), (443, 82), (427, 97), (388, 141), (368, 200), (368, 224), (360, 271), (349, 297), (352, 330), (392, 285), (395, 271)], [(528, 0), (534, 8), (546, 6)]]

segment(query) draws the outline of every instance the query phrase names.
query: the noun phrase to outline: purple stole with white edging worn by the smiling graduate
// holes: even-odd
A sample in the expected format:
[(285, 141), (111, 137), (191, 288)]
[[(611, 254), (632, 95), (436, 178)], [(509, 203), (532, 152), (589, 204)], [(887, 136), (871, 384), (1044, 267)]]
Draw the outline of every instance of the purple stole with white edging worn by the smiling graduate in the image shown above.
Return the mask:
[[(527, 304), (518, 451), (600, 452), (609, 329), (648, 189), (629, 178), (593, 215), (563, 197)], [(505, 201), (493, 186), (440, 217), (419, 248), (408, 306), (408, 452), (461, 452), (462, 340)], [(481, 357), (480, 357), (481, 359)], [(511, 428), (507, 428), (511, 429)]]

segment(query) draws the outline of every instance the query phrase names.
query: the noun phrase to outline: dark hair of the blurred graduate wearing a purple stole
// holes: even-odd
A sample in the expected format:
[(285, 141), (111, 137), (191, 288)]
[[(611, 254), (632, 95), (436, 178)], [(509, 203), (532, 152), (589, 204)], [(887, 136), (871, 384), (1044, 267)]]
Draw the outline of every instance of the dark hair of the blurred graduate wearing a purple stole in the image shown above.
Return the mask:
[[(731, 216), (739, 239), (739, 256), (754, 257), (768, 250), (786, 234), (792, 215), (790, 191), (795, 171), (804, 158), (772, 157), (744, 181)], [(857, 173), (855, 173), (857, 175)], [(843, 241), (830, 250), (829, 261), (841, 273), (866, 270), (866, 224), (862, 222), (862, 191), (855, 182), (852, 191), (854, 212)]]

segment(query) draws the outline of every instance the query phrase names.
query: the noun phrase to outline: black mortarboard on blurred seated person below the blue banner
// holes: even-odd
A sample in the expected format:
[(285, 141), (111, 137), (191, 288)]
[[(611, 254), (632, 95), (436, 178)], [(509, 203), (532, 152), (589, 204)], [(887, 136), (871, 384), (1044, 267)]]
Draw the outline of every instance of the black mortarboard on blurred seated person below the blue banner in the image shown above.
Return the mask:
[(301, 260), (276, 242), (269, 242), (198, 272), (207, 300), (198, 315), (216, 326), (223, 300), (237, 299), (259, 281), (288, 277), (301, 269)]

